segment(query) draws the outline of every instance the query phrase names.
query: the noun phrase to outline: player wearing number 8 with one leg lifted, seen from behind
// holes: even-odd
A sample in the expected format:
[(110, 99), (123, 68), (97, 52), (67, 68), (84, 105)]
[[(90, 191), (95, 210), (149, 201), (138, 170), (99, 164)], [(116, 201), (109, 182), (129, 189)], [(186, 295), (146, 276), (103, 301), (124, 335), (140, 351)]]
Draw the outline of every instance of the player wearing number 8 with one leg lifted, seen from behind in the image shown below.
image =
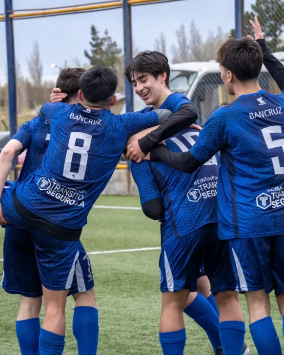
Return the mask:
[(173, 115), (170, 120), (171, 112), (166, 110), (112, 114), (117, 77), (107, 67), (86, 71), (80, 87), (81, 103), (41, 107), (41, 115), (50, 120), (51, 140), (41, 168), (24, 183), (16, 182), (3, 191), (12, 160), (0, 155), (0, 223), (29, 228), (38, 245), (45, 306), (40, 335), (44, 355), (63, 352), (66, 296), (79, 255), (81, 230), (120, 159), (127, 136), (161, 123), (157, 137), (166, 138), (197, 118), (194, 108), (191, 116)]

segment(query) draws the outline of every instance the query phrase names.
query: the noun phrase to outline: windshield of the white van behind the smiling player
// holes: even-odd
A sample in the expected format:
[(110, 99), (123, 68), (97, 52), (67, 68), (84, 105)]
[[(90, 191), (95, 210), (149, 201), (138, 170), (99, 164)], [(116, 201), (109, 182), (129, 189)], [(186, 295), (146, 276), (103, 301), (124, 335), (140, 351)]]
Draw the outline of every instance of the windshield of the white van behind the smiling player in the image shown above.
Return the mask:
[(197, 77), (197, 72), (187, 72), (182, 70), (171, 70), (170, 89), (174, 93), (178, 91), (187, 95), (194, 79)]

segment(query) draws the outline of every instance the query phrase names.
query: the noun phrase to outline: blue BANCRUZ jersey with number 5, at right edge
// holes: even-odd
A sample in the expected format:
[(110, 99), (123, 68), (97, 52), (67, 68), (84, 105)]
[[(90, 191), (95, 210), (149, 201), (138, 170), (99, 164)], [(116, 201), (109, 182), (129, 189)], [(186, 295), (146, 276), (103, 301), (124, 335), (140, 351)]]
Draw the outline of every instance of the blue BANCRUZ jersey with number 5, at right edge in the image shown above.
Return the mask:
[(283, 95), (242, 95), (213, 113), (191, 149), (201, 161), (221, 151), (220, 238), (284, 234), (283, 107)]

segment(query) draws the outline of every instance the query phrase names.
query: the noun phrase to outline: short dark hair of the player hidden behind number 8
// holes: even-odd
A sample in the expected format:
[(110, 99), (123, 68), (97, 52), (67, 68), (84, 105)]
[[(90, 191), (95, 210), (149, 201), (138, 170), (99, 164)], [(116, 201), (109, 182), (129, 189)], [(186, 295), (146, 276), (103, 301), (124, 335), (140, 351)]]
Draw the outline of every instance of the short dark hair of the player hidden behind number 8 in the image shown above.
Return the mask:
[(56, 80), (56, 87), (61, 89), (62, 93), (68, 95), (63, 102), (68, 102), (70, 98), (78, 94), (80, 79), (84, 72), (85, 69), (83, 68), (66, 68), (61, 70)]

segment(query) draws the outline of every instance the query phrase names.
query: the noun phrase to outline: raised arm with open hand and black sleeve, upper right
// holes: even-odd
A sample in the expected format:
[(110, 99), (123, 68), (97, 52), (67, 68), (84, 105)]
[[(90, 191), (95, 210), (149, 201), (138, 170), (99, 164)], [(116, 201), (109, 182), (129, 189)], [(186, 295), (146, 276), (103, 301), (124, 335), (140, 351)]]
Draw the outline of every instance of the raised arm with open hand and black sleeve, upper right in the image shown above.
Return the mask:
[[(261, 46), (264, 55), (265, 68), (268, 70), (271, 77), (276, 81), (276, 84), (279, 86), (280, 90), (284, 91), (284, 65), (269, 51), (257, 17), (254, 18), (254, 21), (249, 20), (249, 22), (254, 30), (255, 40)], [(251, 36), (247, 37), (253, 39)]]

